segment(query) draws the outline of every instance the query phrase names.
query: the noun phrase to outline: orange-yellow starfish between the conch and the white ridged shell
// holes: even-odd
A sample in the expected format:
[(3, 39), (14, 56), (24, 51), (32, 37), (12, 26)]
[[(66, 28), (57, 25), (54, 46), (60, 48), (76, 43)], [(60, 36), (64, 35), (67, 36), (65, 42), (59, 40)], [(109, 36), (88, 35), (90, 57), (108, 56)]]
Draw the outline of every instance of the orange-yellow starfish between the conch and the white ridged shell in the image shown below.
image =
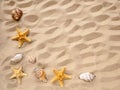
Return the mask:
[(55, 81), (58, 81), (58, 83), (61, 87), (63, 87), (63, 81), (65, 79), (70, 79), (71, 78), (71, 76), (65, 74), (65, 68), (62, 68), (59, 71), (54, 69), (53, 72), (55, 74), (55, 77), (51, 80), (51, 82), (54, 83)]

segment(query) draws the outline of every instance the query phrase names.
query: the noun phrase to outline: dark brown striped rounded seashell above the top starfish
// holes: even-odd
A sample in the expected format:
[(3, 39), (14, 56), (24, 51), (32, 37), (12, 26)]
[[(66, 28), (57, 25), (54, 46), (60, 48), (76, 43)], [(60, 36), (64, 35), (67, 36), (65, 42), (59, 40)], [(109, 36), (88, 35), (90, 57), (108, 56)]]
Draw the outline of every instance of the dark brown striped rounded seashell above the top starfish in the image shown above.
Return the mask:
[(17, 9), (12, 10), (11, 14), (14, 20), (19, 21), (23, 15), (23, 12), (17, 8)]

